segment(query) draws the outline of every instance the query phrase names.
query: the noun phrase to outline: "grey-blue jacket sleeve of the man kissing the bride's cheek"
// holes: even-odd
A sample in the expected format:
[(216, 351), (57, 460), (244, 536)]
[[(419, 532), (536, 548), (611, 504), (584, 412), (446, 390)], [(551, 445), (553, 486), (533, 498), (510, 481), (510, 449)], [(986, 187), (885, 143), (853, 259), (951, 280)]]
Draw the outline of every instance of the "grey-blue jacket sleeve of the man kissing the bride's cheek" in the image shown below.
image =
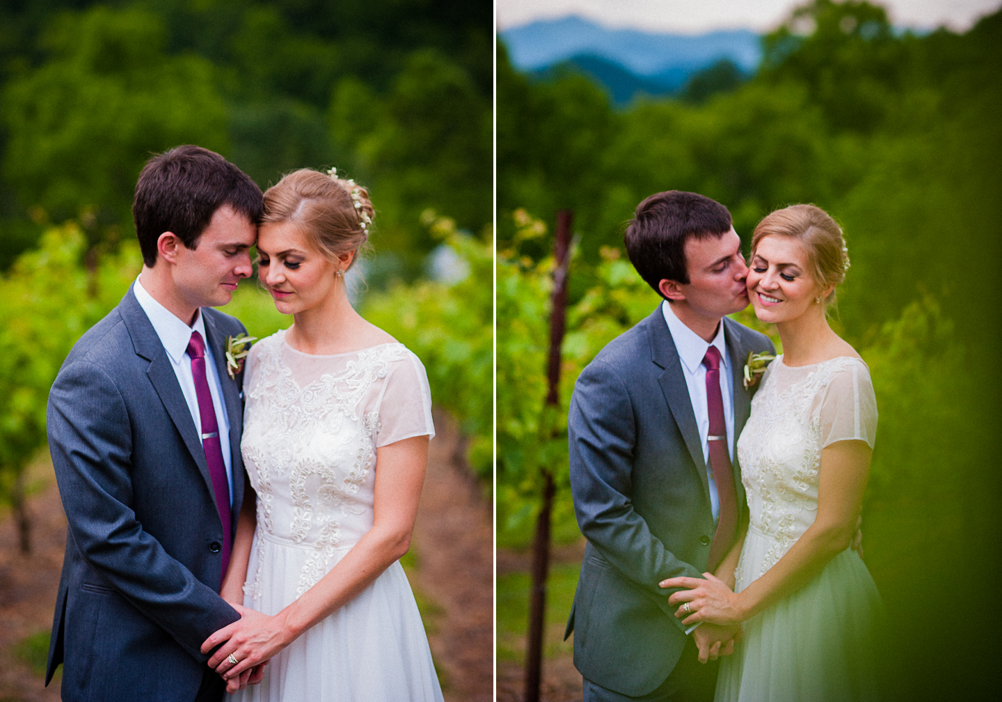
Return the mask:
[(620, 575), (654, 595), (682, 632), (675, 608), (658, 583), (665, 578), (701, 578), (693, 566), (675, 558), (654, 537), (634, 509), (631, 470), (636, 425), (626, 386), (615, 371), (592, 362), (574, 386), (568, 418), (570, 482), (582, 534)]

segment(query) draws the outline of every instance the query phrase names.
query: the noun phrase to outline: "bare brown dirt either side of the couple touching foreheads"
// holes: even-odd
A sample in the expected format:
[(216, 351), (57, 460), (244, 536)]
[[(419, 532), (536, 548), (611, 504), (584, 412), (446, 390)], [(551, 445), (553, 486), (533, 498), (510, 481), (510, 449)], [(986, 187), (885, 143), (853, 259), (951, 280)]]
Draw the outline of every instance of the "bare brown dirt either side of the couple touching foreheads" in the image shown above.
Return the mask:
[[(493, 548), (490, 505), (456, 457), (458, 436), (446, 415), (436, 413), (428, 475), (418, 509), (412, 581), (426, 603), (429, 642), (444, 680), (447, 702), (487, 702), (492, 694)], [(66, 544), (55, 476), (47, 454), (32, 465), (29, 498), (34, 517), (33, 553), (19, 553), (9, 510), (0, 511), (0, 702), (54, 702), (58, 680), (48, 688), (15, 655), (15, 647), (52, 626)]]

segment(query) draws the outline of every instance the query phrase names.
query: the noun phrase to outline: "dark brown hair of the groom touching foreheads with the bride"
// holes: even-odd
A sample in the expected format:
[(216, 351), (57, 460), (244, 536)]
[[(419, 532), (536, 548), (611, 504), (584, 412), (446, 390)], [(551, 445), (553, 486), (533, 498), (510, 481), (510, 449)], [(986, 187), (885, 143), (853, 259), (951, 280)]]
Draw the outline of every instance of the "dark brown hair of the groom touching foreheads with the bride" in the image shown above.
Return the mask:
[(264, 199), (258, 184), (215, 151), (188, 144), (154, 155), (139, 173), (132, 201), (142, 262), (156, 264), (156, 241), (164, 232), (188, 249), (197, 247), (223, 205), (258, 225)]

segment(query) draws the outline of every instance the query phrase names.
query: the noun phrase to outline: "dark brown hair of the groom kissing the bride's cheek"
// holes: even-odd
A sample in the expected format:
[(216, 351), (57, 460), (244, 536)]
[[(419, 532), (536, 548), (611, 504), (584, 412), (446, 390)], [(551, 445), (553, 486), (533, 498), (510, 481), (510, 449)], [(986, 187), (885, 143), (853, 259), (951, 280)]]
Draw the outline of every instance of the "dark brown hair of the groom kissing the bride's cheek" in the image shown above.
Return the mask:
[[(662, 280), (686, 285), (685, 241), (720, 238), (730, 231), (730, 213), (695, 193), (656, 193), (636, 206), (623, 243), (633, 268), (658, 295)], [(662, 296), (663, 297), (663, 296)]]

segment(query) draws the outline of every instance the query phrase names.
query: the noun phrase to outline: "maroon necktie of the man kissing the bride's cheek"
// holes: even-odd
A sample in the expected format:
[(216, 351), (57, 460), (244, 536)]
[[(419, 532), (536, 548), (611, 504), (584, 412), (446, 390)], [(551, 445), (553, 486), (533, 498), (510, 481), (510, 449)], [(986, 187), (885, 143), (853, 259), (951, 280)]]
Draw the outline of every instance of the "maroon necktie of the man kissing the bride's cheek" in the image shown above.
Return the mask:
[(723, 398), (720, 396), (720, 352), (715, 346), (706, 349), (702, 364), (706, 366), (709, 464), (713, 469), (713, 481), (716, 483), (716, 496), (720, 505), (716, 534), (713, 535), (713, 543), (709, 547), (709, 562), (706, 564), (706, 570), (712, 573), (734, 545), (737, 532), (737, 495), (734, 492), (730, 456), (727, 454), (727, 424), (723, 419)]

